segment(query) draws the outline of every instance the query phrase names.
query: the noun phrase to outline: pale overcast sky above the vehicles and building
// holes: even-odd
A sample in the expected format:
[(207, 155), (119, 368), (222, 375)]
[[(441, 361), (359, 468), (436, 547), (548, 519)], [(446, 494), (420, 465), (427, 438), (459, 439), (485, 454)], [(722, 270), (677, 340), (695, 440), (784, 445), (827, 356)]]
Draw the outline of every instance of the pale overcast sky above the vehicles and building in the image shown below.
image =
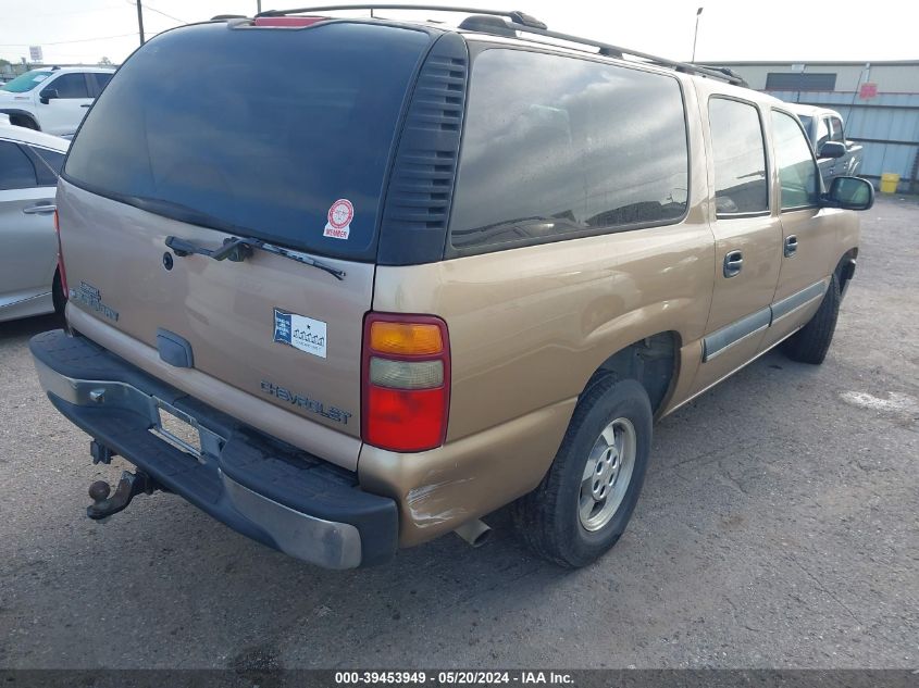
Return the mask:
[[(268, 10), (295, 7), (297, 1), (262, 3)], [(334, 3), (319, 0), (313, 4)], [(703, 7), (697, 61), (919, 60), (917, 0), (852, 4), (800, 0), (429, 0), (425, 4), (518, 9), (555, 30), (671, 60), (692, 58), (696, 10)], [(158, 32), (214, 14), (251, 15), (256, 7), (257, 0), (145, 1), (144, 28), (149, 39)], [(445, 16), (421, 14), (424, 18)], [(103, 57), (119, 64), (137, 45), (135, 0), (0, 0), (0, 58), (11, 62), (28, 57), (28, 46), (41, 46), (49, 64), (95, 64)]]

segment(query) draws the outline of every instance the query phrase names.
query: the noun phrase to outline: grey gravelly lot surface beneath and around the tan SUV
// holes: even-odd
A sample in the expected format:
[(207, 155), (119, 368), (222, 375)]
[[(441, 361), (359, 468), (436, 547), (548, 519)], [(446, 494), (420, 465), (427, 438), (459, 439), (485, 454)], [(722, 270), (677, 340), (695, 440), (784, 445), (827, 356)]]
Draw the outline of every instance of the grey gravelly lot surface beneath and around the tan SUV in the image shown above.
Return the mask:
[(507, 515), (378, 568), (268, 550), (178, 498), (88, 521), (88, 438), (0, 325), (0, 666), (919, 665), (919, 203), (862, 216), (820, 367), (770, 353), (657, 427), (619, 546), (578, 572)]

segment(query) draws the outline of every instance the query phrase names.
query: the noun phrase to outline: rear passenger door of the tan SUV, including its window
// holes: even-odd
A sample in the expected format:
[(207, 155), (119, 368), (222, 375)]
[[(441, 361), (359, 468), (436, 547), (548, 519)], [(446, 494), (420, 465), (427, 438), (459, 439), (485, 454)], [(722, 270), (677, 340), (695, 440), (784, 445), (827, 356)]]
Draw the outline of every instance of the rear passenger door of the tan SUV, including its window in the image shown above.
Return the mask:
[(707, 112), (709, 186), (716, 211), (715, 291), (695, 391), (760, 351), (782, 254), (782, 232), (771, 211), (760, 110), (752, 102), (712, 96)]

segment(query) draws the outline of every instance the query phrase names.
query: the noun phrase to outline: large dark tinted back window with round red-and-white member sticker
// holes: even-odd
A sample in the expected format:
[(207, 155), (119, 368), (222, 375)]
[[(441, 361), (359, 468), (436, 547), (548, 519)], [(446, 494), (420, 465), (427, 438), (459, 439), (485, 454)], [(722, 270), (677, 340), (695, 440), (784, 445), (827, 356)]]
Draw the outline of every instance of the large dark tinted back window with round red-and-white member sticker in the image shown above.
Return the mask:
[[(427, 42), (423, 32), (358, 23), (169, 32), (112, 78), (64, 178), (216, 221), (197, 224), (372, 259), (393, 138)], [(333, 205), (352, 209), (350, 221), (331, 221)]]

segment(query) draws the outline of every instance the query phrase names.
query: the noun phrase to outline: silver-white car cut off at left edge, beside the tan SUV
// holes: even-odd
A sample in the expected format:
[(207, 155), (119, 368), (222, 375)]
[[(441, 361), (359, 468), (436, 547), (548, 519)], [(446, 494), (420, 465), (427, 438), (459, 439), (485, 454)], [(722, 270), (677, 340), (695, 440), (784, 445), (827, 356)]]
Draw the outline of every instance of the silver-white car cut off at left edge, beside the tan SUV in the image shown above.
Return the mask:
[(70, 141), (0, 117), (0, 322), (62, 310), (54, 193)]

